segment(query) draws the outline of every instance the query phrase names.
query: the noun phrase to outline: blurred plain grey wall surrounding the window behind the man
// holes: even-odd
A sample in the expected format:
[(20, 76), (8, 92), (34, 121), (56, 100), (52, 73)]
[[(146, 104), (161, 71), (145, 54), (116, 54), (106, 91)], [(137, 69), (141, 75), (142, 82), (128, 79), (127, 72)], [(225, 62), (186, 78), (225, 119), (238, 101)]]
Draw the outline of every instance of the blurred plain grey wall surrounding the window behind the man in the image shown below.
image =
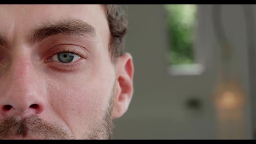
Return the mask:
[[(211, 24), (211, 5), (198, 6), (197, 55), (206, 65), (202, 75), (171, 76), (167, 72), (169, 42), (162, 5), (127, 5), (129, 30), (126, 50), (135, 64), (134, 96), (127, 113), (114, 120), (113, 139), (215, 139), (216, 118), (211, 95), (217, 82), (218, 45)], [(246, 39), (242, 8), (225, 5), (223, 18), (230, 36), (233, 69), (248, 89)], [(202, 109), (186, 108), (197, 97)], [(252, 138), (249, 104), (245, 111), (246, 138)]]

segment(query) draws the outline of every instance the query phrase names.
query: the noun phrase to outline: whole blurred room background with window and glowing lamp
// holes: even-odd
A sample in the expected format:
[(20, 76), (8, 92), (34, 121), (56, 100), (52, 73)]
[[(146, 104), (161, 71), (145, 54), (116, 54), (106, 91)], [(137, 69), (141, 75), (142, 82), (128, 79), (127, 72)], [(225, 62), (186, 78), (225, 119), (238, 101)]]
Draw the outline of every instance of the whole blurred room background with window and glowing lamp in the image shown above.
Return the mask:
[(255, 139), (256, 5), (123, 5), (135, 65), (112, 139)]

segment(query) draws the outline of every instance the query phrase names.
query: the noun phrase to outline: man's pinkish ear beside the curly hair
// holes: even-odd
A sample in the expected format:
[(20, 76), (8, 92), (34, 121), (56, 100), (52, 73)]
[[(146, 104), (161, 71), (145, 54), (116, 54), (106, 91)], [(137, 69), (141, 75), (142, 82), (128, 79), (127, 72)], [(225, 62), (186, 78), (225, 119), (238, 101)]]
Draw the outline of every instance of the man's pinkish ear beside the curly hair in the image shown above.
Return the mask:
[(132, 57), (125, 53), (116, 64), (116, 85), (112, 118), (120, 118), (128, 109), (133, 94), (134, 66)]

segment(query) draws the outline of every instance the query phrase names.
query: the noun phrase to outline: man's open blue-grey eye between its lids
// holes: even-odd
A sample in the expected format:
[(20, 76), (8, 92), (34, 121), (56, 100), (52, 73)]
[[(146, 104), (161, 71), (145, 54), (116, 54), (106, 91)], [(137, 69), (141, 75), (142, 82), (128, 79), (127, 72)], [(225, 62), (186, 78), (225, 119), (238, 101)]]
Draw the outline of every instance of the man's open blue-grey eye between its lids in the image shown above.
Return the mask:
[(53, 61), (69, 63), (78, 60), (80, 57), (70, 53), (70, 52), (61, 52), (53, 56)]

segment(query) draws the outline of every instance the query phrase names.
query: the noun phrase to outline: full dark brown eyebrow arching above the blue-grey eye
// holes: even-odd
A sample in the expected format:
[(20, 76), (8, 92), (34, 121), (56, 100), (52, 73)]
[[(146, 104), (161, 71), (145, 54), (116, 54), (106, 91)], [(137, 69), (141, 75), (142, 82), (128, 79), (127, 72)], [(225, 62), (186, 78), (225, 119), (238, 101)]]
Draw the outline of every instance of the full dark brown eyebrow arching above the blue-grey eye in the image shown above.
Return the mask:
[(28, 39), (34, 44), (57, 34), (96, 37), (96, 31), (92, 25), (79, 19), (69, 18), (37, 26), (29, 33)]

